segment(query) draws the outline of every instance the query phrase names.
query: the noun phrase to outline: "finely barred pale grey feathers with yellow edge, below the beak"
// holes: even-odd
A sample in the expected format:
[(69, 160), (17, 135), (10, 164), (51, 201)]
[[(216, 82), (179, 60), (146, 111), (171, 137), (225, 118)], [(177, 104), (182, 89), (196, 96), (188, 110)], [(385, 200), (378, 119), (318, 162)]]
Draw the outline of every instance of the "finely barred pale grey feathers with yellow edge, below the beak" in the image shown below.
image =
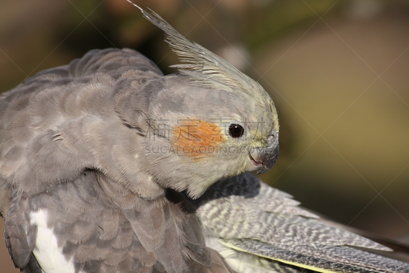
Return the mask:
[(409, 272), (408, 264), (351, 246), (388, 247), (321, 222), (290, 195), (252, 175), (218, 182), (200, 202), (197, 213), (216, 248), (227, 246), (321, 272)]

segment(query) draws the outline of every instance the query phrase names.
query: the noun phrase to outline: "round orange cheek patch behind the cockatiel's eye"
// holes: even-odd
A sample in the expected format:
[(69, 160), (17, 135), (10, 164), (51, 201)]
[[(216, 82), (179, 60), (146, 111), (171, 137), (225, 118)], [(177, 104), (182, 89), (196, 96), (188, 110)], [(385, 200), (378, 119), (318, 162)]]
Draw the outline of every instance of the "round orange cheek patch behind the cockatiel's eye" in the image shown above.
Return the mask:
[(172, 142), (188, 156), (202, 157), (217, 149), (223, 141), (223, 130), (200, 119), (184, 119), (172, 130)]

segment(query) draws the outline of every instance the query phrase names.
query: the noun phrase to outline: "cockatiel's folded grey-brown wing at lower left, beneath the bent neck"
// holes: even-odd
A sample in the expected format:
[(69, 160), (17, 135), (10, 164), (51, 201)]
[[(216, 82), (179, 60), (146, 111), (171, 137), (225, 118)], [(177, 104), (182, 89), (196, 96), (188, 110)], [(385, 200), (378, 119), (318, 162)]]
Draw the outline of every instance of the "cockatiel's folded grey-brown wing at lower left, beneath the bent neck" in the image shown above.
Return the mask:
[[(45, 226), (33, 220), (38, 212), (46, 213)], [(166, 198), (144, 200), (96, 172), (84, 172), (47, 193), (13, 199), (5, 220), (12, 259), (27, 272), (32, 252), (40, 265), (53, 265), (38, 258), (38, 228), (52, 230), (56, 252), (76, 271), (232, 272), (203, 244), (193, 213)]]

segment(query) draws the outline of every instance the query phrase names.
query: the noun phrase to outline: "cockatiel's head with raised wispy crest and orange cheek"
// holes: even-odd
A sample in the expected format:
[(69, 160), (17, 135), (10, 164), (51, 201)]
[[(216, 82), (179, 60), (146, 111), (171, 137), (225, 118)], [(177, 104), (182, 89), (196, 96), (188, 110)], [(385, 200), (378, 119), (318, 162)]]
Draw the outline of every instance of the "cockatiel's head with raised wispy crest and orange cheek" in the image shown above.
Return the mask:
[(185, 64), (144, 87), (144, 156), (152, 180), (199, 197), (214, 182), (268, 171), (279, 153), (274, 102), (253, 79), (187, 40), (159, 15), (144, 16), (166, 34)]

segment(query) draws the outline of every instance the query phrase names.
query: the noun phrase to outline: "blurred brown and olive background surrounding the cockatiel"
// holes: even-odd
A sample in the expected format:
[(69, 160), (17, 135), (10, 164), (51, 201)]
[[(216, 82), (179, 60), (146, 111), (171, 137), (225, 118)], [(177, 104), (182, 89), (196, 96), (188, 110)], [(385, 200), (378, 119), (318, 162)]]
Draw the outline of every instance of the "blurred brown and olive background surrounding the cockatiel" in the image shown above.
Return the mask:
[[(387, 238), (409, 231), (409, 3), (133, 0), (258, 80), (280, 156), (261, 178), (304, 207)], [(0, 92), (95, 48), (176, 57), (125, 0), (0, 2)], [(0, 220), (3, 229), (4, 221)], [(0, 268), (14, 269), (0, 236)]]

